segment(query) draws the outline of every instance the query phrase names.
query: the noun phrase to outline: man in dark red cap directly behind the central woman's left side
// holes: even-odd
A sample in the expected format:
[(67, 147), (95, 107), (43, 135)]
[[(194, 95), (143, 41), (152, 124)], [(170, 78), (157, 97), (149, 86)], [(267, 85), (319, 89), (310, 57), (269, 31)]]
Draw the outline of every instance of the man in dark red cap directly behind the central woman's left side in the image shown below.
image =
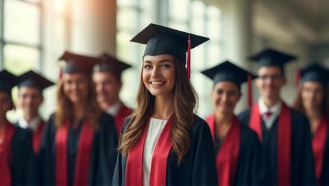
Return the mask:
[(119, 137), (125, 118), (132, 112), (132, 109), (127, 107), (119, 98), (122, 87), (121, 73), (131, 66), (107, 53), (103, 53), (99, 59), (101, 62), (93, 68), (97, 101), (103, 111), (114, 117), (115, 129)]

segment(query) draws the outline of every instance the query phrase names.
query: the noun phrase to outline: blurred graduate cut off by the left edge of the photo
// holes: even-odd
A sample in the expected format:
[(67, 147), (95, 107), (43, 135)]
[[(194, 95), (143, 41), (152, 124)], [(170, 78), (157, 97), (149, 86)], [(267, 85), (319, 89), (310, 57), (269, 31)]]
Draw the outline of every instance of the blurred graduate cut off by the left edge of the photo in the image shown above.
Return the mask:
[(31, 133), (11, 124), (5, 115), (13, 109), (11, 92), (19, 81), (6, 70), (0, 72), (0, 185), (38, 183)]

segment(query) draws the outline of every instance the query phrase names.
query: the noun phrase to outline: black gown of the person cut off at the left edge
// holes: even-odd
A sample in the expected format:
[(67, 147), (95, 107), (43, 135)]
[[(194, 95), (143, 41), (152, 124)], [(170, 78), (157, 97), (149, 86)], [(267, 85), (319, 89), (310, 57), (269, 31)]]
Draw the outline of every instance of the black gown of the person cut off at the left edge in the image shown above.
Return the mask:
[(26, 129), (15, 128), (10, 142), (12, 185), (37, 185), (38, 172), (32, 148), (32, 133)]

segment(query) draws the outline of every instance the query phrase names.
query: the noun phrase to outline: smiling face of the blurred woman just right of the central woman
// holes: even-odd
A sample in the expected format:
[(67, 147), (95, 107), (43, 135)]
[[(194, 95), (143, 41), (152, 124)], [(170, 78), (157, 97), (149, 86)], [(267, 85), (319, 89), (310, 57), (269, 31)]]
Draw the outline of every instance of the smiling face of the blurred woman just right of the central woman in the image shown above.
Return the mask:
[(236, 84), (230, 81), (219, 81), (212, 88), (210, 96), (216, 111), (230, 114), (233, 113), (241, 94)]

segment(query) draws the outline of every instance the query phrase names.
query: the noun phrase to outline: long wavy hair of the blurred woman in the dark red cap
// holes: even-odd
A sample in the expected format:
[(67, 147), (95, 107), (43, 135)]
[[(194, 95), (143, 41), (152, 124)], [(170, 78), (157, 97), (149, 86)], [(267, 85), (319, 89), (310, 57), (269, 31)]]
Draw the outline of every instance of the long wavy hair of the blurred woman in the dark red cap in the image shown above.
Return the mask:
[[(96, 100), (95, 83), (90, 76), (85, 75), (88, 83), (88, 93), (86, 96), (86, 108), (84, 119), (90, 121), (90, 126), (97, 130), (99, 129), (99, 118), (101, 116), (101, 108)], [(64, 94), (64, 81), (60, 80), (57, 91), (57, 109), (55, 114), (56, 127), (61, 127), (64, 124), (64, 120), (73, 118), (73, 103)]]

